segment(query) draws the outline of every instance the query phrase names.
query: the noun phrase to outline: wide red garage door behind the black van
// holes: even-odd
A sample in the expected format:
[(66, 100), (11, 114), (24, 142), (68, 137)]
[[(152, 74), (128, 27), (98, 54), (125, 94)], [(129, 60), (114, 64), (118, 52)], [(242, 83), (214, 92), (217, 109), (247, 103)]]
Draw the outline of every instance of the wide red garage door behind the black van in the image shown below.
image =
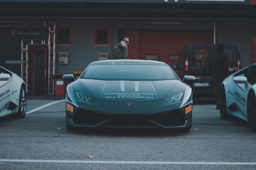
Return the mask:
[(212, 31), (141, 30), (140, 35), (140, 58), (158, 57), (159, 61), (164, 61), (170, 66), (173, 63), (178, 64), (179, 53), (187, 44), (213, 43)]

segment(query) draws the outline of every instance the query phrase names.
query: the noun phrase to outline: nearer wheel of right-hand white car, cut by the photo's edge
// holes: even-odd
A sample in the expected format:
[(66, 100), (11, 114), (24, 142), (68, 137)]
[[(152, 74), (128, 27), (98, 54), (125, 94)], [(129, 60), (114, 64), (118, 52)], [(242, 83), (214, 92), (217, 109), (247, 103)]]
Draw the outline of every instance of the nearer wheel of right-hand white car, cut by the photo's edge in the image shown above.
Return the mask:
[(256, 97), (254, 92), (250, 93), (247, 102), (247, 117), (251, 131), (256, 132)]

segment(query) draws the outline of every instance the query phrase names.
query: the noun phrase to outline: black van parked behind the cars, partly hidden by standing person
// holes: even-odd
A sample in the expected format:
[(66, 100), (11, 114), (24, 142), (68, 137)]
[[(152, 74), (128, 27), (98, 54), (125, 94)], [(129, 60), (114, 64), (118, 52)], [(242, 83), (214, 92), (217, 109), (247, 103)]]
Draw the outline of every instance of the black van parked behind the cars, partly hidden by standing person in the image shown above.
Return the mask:
[[(177, 74), (183, 80), (184, 75), (193, 75), (196, 80), (191, 83), (193, 94), (202, 94), (202, 97), (214, 95), (214, 83), (208, 70), (208, 60), (215, 51), (216, 44), (186, 45), (180, 52)], [(230, 74), (240, 70), (240, 51), (237, 44), (225, 44), (224, 52), (228, 56)]]

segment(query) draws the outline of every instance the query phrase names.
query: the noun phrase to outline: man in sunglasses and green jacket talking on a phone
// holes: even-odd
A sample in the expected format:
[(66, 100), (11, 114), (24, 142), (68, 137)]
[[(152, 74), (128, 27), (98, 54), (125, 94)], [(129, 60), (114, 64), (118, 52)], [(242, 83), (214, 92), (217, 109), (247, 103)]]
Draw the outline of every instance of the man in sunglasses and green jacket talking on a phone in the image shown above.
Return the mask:
[(128, 59), (129, 38), (126, 35), (121, 35), (119, 42), (112, 50), (112, 59)]

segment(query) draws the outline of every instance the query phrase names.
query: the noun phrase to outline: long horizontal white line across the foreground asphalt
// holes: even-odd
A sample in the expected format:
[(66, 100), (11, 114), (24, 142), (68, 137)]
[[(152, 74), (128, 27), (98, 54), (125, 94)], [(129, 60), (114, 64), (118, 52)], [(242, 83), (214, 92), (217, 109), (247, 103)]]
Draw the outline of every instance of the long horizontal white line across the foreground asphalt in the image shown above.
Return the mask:
[(256, 162), (158, 162), (158, 161), (79, 161), (79, 160), (30, 160), (0, 159), (0, 162), (47, 162), (47, 163), (102, 163), (102, 164), (184, 164), (184, 165), (256, 165)]

